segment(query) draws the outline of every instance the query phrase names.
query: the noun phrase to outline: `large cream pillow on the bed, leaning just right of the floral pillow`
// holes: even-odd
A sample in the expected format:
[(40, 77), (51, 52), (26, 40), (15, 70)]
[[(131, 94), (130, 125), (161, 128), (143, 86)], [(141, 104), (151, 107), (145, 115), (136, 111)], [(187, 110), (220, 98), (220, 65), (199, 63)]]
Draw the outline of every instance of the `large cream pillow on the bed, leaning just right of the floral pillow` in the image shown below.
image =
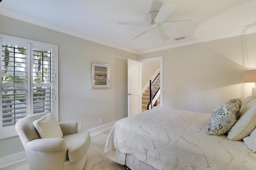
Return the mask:
[(236, 123), (228, 131), (228, 139), (233, 141), (242, 140), (256, 127), (256, 99), (250, 101), (242, 111)]

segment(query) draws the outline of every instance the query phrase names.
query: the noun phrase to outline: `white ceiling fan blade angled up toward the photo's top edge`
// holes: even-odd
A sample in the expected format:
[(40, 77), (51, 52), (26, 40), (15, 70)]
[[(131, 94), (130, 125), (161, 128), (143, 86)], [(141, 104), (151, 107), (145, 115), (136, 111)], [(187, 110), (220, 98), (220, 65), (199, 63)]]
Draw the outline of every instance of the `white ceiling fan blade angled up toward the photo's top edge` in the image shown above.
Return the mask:
[(163, 23), (174, 8), (176, 8), (175, 5), (164, 3), (155, 18), (155, 23)]

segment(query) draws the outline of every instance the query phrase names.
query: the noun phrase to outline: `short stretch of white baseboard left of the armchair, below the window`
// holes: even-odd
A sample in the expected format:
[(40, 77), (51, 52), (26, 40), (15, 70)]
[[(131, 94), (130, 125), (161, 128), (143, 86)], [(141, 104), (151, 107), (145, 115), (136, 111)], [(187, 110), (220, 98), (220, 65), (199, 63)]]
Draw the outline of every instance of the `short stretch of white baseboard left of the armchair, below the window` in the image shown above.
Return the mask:
[(10, 156), (6, 156), (4, 158), (0, 158), (0, 169), (5, 166), (8, 166), (8, 165), (15, 164), (16, 162), (20, 162), (25, 159), (27, 159), (27, 155), (26, 155), (25, 151), (19, 152), (16, 154), (12, 154)]

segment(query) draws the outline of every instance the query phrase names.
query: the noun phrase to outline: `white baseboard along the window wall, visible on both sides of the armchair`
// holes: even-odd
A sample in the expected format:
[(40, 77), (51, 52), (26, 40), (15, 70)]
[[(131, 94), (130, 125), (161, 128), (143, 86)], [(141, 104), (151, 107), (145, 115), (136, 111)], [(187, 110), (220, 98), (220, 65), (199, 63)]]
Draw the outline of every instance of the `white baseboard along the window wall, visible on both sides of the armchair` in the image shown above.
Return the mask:
[[(93, 129), (89, 129), (89, 133), (90, 135), (94, 135), (96, 133), (100, 133), (102, 131), (106, 131), (107, 129), (111, 129), (114, 124), (116, 123), (116, 121), (113, 121), (111, 123), (107, 123), (105, 125), (99, 126), (99, 127), (95, 127)], [(26, 152), (19, 152), (10, 156), (6, 156), (4, 158), (0, 158), (0, 168), (3, 168), (5, 166), (9, 166), (11, 164), (15, 164), (16, 162), (20, 162), (24, 159), (27, 159), (27, 155)]]

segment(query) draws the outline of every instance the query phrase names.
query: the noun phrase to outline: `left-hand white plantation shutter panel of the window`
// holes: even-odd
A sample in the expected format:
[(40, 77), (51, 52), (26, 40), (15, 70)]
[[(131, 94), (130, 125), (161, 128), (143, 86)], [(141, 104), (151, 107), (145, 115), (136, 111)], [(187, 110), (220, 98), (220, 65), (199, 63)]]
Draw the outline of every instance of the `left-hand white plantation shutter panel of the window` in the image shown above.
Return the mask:
[(2, 127), (26, 116), (26, 44), (2, 42)]

